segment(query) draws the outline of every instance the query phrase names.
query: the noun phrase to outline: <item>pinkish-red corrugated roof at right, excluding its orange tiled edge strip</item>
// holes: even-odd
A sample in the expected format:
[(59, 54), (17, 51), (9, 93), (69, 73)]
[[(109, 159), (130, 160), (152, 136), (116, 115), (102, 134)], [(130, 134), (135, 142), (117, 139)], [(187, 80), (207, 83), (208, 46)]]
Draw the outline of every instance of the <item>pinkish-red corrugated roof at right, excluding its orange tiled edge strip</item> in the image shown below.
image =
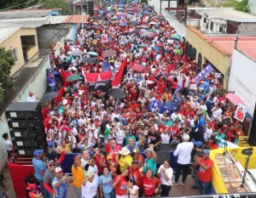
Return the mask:
[[(233, 54), (235, 37), (211, 37), (211, 39), (230, 54)], [(256, 37), (238, 37), (237, 49), (249, 58), (256, 60)]]

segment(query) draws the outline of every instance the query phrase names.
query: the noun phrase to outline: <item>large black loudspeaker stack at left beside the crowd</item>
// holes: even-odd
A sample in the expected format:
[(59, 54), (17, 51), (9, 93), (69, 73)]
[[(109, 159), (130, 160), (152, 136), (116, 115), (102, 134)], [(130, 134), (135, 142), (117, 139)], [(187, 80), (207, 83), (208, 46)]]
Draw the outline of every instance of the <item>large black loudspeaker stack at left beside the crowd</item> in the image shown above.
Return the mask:
[(34, 150), (47, 148), (40, 103), (12, 103), (5, 111), (5, 115), (16, 154), (33, 156)]

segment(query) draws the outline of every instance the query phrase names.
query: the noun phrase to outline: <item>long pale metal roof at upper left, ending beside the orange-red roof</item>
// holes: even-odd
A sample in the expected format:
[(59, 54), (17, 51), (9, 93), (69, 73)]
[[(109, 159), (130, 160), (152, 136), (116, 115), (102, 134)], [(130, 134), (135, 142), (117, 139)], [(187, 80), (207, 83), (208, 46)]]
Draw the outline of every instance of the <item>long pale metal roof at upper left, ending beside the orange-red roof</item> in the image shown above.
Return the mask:
[(61, 24), (68, 16), (46, 16), (44, 18), (27, 18), (27, 19), (11, 19), (0, 20), (0, 28), (4, 27), (23, 27), (37, 28), (47, 24)]

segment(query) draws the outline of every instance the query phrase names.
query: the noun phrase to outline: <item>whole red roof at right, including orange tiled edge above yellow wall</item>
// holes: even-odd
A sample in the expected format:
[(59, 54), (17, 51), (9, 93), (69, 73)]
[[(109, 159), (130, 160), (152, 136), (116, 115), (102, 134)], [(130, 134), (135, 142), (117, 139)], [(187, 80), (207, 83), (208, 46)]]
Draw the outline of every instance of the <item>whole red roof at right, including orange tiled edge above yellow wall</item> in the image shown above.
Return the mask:
[[(190, 25), (186, 25), (186, 27), (211, 44), (212, 47), (216, 48), (221, 54), (233, 54), (233, 49), (235, 48), (235, 36), (208, 37)], [(242, 54), (247, 55), (250, 59), (256, 60), (256, 37), (239, 36), (237, 41), (237, 49)]]

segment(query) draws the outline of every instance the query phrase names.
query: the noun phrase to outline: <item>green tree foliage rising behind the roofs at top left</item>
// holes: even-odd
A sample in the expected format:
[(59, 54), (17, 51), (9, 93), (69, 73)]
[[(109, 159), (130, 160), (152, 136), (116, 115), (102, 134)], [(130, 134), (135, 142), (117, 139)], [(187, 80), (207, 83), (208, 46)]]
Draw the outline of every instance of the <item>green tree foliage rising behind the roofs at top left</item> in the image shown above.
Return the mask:
[(61, 8), (61, 14), (68, 14), (71, 8), (67, 0), (39, 0), (38, 5), (41, 8)]

